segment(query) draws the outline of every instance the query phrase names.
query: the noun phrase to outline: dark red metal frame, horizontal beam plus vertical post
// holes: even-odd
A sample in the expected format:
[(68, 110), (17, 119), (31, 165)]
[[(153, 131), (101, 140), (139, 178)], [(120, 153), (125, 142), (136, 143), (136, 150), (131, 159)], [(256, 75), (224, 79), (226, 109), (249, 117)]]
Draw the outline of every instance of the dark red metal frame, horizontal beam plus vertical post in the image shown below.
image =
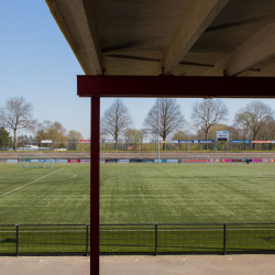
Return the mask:
[(91, 97), (90, 274), (99, 274), (100, 97), (275, 98), (275, 78), (77, 76), (77, 95)]

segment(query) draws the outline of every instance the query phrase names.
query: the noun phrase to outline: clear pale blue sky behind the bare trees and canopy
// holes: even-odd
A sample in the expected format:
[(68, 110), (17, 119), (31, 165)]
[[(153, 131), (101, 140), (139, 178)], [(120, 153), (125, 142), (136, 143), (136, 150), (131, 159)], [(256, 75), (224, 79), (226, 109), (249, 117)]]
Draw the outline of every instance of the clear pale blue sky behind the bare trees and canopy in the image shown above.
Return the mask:
[[(58, 121), (67, 131), (90, 138), (90, 100), (76, 95), (76, 76), (84, 75), (73, 51), (55, 23), (45, 1), (0, 1), (0, 107), (11, 97), (23, 96), (33, 103), (40, 122)], [(101, 113), (114, 101), (101, 99)], [(135, 128), (155, 99), (122, 99)], [(177, 99), (190, 121), (193, 103), (202, 99)], [(230, 118), (252, 99), (224, 99)], [(261, 100), (275, 109), (275, 100)], [(230, 122), (230, 121), (229, 121)], [(22, 132), (23, 133), (23, 132)]]

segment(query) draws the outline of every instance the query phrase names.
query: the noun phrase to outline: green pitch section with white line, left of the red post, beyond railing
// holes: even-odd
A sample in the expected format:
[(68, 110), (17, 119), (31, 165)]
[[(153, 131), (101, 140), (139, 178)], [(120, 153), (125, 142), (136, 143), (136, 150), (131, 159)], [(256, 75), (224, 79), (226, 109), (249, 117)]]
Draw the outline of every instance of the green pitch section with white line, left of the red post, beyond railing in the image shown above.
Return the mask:
[(0, 224), (89, 223), (89, 178), (88, 164), (45, 169), (1, 164)]

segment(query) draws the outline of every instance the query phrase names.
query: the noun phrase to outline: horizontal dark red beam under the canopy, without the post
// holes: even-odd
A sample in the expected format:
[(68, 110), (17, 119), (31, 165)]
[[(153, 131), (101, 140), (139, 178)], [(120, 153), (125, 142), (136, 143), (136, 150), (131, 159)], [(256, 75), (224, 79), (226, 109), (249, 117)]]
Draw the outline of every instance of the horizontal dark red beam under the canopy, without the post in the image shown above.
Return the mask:
[(275, 77), (77, 76), (79, 97), (275, 98)]

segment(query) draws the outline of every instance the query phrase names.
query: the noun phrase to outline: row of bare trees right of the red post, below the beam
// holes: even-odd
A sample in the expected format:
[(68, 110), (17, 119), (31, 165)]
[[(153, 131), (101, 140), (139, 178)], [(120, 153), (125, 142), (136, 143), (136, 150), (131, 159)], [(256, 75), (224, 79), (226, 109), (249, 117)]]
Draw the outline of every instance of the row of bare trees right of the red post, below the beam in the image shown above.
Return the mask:
[(176, 99), (160, 98), (145, 117), (143, 128), (134, 129), (129, 109), (117, 99), (101, 118), (100, 136), (102, 141), (112, 136), (117, 148), (119, 138), (129, 142), (142, 142), (145, 136), (155, 140), (158, 124), (158, 136), (163, 141), (168, 136), (170, 140), (215, 140), (216, 131), (229, 131), (232, 140), (275, 139), (274, 111), (268, 105), (258, 100), (248, 103), (234, 114), (232, 124), (227, 124), (229, 114), (221, 99), (204, 99), (194, 103), (189, 127)]

